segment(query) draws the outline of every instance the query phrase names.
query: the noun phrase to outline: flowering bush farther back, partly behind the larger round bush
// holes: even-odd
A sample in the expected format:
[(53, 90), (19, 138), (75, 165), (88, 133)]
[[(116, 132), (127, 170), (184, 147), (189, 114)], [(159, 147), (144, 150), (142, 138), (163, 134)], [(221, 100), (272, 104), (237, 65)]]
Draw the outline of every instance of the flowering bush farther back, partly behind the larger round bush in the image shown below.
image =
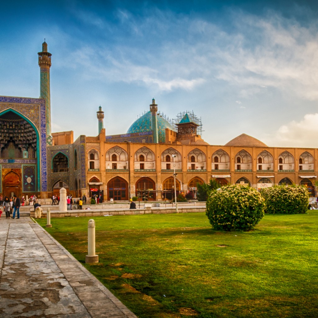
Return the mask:
[(305, 213), (308, 210), (309, 196), (304, 186), (276, 185), (261, 190), (265, 199), (265, 213)]

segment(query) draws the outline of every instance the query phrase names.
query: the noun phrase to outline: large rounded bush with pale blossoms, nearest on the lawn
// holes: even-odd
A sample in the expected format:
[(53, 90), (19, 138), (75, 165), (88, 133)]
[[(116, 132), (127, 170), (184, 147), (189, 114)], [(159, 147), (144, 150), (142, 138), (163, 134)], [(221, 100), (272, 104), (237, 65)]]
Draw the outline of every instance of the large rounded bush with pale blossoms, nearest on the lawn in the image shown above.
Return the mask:
[(248, 231), (264, 217), (264, 199), (249, 186), (226, 185), (211, 192), (206, 215), (215, 230)]

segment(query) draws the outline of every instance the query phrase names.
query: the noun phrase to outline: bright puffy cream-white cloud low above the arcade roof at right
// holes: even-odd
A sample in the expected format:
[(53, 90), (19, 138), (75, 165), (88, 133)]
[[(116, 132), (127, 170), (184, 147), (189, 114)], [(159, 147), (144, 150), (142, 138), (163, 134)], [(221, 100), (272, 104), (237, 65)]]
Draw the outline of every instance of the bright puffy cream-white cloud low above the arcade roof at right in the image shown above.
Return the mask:
[(268, 146), (318, 147), (318, 114), (306, 114), (301, 121), (291, 121), (262, 141)]

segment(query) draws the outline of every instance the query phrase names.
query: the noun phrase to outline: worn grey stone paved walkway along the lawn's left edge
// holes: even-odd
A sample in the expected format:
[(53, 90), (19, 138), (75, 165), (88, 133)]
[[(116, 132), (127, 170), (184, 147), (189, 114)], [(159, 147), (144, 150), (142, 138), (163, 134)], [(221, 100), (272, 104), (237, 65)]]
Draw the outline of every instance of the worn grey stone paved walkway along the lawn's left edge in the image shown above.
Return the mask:
[(31, 218), (0, 218), (0, 317), (136, 318)]

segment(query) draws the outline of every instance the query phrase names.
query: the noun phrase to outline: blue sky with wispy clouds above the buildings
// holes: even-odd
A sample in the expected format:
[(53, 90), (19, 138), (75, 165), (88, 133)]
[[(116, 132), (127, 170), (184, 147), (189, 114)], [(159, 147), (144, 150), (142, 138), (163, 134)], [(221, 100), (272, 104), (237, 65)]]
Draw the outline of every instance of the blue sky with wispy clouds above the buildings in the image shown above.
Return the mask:
[(0, 95), (39, 96), (52, 53), (52, 131), (126, 133), (152, 98), (201, 117), (222, 145), (318, 147), (315, 1), (17, 1), (1, 4)]

